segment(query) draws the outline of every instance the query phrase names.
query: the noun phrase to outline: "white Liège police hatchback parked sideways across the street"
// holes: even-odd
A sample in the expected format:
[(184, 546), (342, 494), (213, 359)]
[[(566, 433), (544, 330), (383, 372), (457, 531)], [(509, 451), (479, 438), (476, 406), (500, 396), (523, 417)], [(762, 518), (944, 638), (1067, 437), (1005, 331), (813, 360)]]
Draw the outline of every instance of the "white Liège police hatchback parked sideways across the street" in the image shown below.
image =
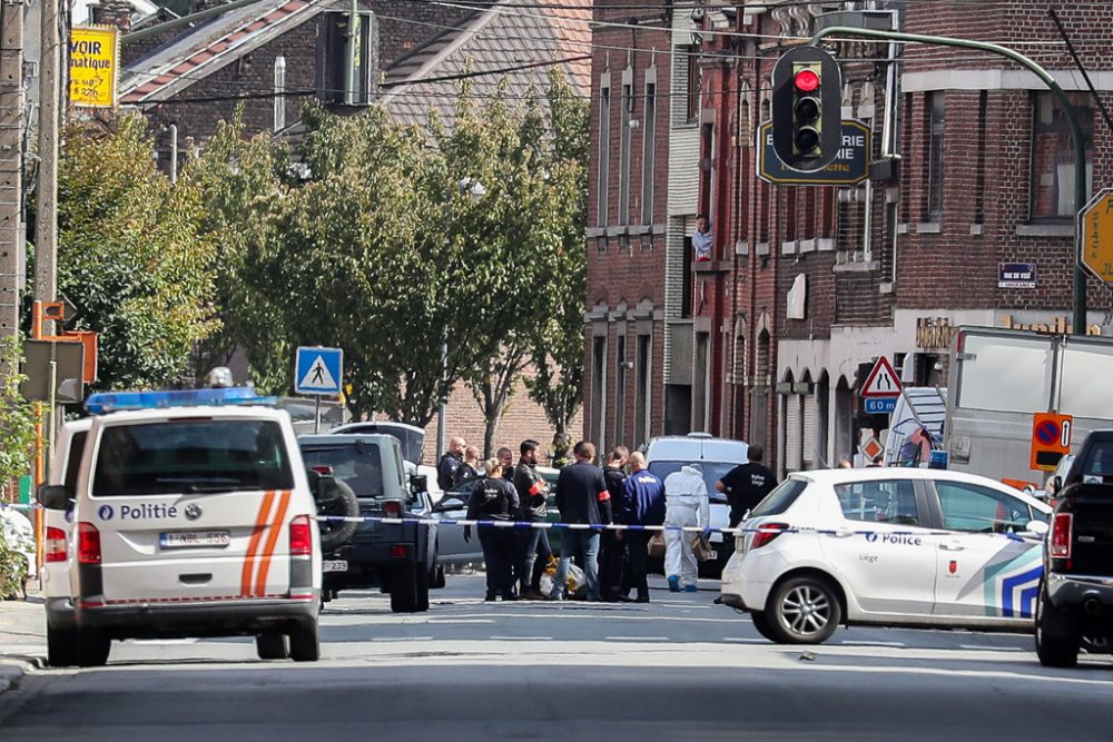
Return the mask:
[(791, 644), (840, 623), (1031, 631), (1050, 513), (958, 472), (792, 474), (742, 523), (721, 602)]

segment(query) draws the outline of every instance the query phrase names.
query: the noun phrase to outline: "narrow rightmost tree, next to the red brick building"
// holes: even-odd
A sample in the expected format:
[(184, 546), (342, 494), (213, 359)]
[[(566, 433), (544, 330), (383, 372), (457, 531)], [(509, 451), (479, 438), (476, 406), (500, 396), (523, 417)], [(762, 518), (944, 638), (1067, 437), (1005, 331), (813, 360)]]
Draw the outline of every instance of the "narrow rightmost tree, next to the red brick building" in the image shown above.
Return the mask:
[(562, 75), (553, 71), (549, 87), (553, 164), (550, 182), (554, 207), (545, 215), (554, 235), (543, 253), (548, 311), (530, 335), (530, 357), (536, 376), (526, 388), (545, 410), (558, 435), (567, 435), (583, 399), (583, 311), (587, 303), (587, 255), (583, 226), (588, 214), (589, 109)]

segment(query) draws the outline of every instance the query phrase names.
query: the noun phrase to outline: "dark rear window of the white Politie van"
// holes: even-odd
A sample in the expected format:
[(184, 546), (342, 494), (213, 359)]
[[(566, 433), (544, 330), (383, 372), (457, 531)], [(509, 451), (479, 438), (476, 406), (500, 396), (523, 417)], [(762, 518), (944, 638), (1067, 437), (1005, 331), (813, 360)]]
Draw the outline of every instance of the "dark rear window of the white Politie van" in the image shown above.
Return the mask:
[(97, 453), (92, 495), (293, 487), (278, 423), (197, 418), (106, 427)]

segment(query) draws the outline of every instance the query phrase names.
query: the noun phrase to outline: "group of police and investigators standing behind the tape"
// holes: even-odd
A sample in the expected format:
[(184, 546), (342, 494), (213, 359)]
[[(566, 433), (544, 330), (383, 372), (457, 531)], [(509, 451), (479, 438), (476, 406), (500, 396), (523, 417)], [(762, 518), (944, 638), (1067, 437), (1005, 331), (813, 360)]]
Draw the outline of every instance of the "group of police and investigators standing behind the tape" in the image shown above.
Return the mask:
[[(512, 452), (501, 448), (496, 457), (482, 464), (481, 474), (475, 466), (477, 451), (469, 462), (463, 439), (452, 438), (437, 464), (439, 483), (449, 489), (465, 478), (482, 477), (467, 503), (469, 520), (544, 522), (549, 486), (536, 469), (539, 446), (536, 441), (523, 441), (516, 466)], [(644, 455), (630, 453), (626, 446), (615, 446), (602, 467), (595, 465), (595, 455), (594, 444), (578, 443), (573, 463), (562, 467), (556, 478), (555, 505), (561, 521), (587, 527), (562, 532), (560, 562), (548, 595), (541, 592), (541, 577), (552, 556), (548, 530), (479, 528), (487, 601), (500, 596), (504, 601), (564, 600), (569, 567), (575, 558), (584, 572), (588, 601), (648, 603), (649, 545), (660, 532), (603, 527), (609, 524), (667, 526), (664, 573), (669, 590), (697, 591), (696, 550), (708, 548), (710, 533), (710, 503), (700, 465), (684, 464), (661, 482), (647, 467)], [(761, 457), (761, 447), (751, 446), (749, 461), (715, 483), (730, 503), (731, 527), (776, 484)], [(465, 526), (464, 538), (470, 537), (471, 527)]]

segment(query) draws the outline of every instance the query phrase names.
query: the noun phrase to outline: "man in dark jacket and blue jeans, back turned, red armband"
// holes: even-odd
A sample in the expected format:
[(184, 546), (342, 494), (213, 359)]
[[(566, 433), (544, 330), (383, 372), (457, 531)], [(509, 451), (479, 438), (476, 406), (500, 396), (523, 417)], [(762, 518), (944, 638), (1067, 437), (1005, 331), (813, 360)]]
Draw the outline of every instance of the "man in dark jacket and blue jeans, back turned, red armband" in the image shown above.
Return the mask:
[[(573, 452), (575, 463), (561, 469), (556, 478), (556, 507), (564, 523), (581, 525), (605, 525), (611, 518), (611, 493), (607, 489), (603, 469), (592, 462), (595, 445), (588, 441), (577, 444)], [(568, 530), (561, 535), (560, 564), (553, 577), (553, 590), (549, 600), (560, 601), (568, 587), (568, 566), (572, 556), (583, 560), (583, 572), (588, 583), (588, 600), (599, 597), (599, 528)]]

